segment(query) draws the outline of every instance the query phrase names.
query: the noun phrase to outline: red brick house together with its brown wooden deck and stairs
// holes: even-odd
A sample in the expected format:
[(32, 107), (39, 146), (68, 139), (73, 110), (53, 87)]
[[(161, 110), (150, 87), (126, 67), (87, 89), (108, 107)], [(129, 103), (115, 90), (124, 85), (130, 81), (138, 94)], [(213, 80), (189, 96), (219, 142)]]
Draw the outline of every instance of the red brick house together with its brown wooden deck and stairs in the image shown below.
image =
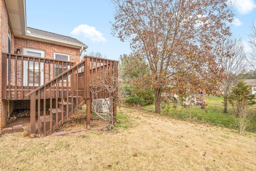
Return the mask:
[(80, 62), (88, 46), (79, 40), (27, 27), (25, 0), (0, 0), (0, 14), (0, 130), (14, 109), (30, 108), (31, 133), (50, 134), (85, 103), (90, 109), (92, 78), (117, 76), (117, 61)]

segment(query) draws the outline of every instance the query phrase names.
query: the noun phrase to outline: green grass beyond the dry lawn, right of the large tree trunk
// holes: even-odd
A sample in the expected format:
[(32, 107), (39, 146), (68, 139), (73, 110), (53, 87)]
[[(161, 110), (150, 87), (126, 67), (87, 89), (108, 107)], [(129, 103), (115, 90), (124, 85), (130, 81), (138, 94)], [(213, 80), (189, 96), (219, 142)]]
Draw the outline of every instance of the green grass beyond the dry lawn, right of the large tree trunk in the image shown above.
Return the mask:
[[(165, 109), (161, 109), (162, 115), (168, 115), (170, 117), (174, 117), (176, 119), (189, 120), (191, 115), (192, 121), (198, 121), (202, 123), (209, 123), (211, 125), (216, 125), (220, 127), (232, 128), (236, 129), (236, 125), (234, 123), (233, 109), (230, 105), (228, 105), (227, 111), (228, 113), (223, 113), (223, 97), (214, 97), (214, 96), (204, 96), (203, 100), (208, 104), (204, 106), (204, 109), (201, 109), (201, 106), (188, 106), (182, 107), (179, 103), (178, 107), (174, 109), (170, 107), (168, 109), (168, 113), (166, 113)], [(170, 103), (170, 106), (173, 106)], [(146, 105), (142, 107), (145, 111), (154, 111), (154, 104)], [(256, 107), (251, 107), (252, 110), (256, 113)], [(250, 127), (248, 131), (256, 130), (256, 117), (251, 120)]]

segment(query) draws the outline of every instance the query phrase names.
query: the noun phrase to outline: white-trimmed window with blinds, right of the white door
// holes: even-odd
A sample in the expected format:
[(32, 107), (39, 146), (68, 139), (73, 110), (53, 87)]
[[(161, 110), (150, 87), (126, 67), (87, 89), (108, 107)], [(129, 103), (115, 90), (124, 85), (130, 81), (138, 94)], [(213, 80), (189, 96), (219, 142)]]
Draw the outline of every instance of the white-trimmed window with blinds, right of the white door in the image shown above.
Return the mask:
[[(62, 60), (62, 61), (69, 61), (69, 55), (54, 53), (54, 59)], [(59, 66), (58, 66), (58, 64), (55, 64), (55, 67), (54, 67), (55, 77), (62, 74), (62, 72), (65, 72), (67, 69), (68, 69), (68, 66), (67, 65), (62, 66), (61, 62), (60, 62)], [(66, 80), (66, 78), (64, 78), (64, 80)]]

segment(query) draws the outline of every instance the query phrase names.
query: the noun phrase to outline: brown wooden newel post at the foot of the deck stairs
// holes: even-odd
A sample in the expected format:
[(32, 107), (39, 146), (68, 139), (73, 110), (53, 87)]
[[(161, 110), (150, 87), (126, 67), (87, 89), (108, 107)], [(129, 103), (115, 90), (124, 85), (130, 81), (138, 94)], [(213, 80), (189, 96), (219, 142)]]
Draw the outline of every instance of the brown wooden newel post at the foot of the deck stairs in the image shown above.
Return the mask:
[[(31, 137), (36, 136), (36, 93), (30, 95), (30, 128)], [(40, 105), (40, 104), (39, 104)]]

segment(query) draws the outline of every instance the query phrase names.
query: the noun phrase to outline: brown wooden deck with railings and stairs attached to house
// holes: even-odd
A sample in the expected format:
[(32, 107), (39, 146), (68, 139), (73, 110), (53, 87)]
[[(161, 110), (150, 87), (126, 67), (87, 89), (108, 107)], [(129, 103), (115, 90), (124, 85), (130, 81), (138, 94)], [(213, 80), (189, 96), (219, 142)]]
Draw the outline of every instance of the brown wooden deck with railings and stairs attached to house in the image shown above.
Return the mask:
[[(2, 72), (2, 99), (30, 99), (32, 137), (36, 134), (44, 136), (51, 134), (84, 104), (87, 105), (86, 128), (90, 129), (92, 103), (90, 84), (104, 80), (105, 84), (111, 86), (112, 77), (118, 77), (118, 61), (114, 60), (84, 56), (83, 61), (74, 65), (67, 61), (16, 54), (3, 53), (2, 56), (3, 63), (7, 64)], [(29, 65), (33, 66), (30, 73), (24, 72), (26, 71), (23, 65), (25, 63), (28, 68)], [(63, 66), (70, 66), (70, 68), (60, 73), (60, 70), (63, 71)], [(42, 72), (40, 67), (43, 68)], [(52, 71), (52, 68), (55, 70)], [(58, 74), (54, 74), (55, 71), (58, 71)], [(40, 76), (44, 77), (43, 81), (38, 79)], [(24, 77), (27, 80), (23, 79)], [(98, 88), (100, 89), (96, 87)], [(99, 91), (97, 97), (106, 97), (106, 92)], [(50, 107), (46, 109), (49, 103)], [(36, 110), (42, 110), (43, 115), (38, 116)], [(46, 115), (46, 110), (50, 111), (50, 115)], [(116, 105), (113, 112), (116, 121)]]

